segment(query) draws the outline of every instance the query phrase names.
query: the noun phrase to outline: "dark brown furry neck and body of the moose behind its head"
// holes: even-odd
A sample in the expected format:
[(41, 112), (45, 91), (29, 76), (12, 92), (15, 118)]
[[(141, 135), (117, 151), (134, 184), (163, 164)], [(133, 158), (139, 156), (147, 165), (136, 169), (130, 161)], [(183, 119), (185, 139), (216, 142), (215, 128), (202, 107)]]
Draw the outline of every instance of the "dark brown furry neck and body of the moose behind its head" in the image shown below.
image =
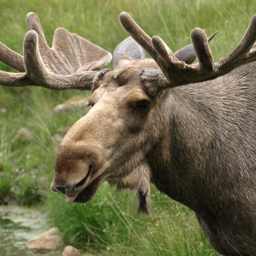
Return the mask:
[(166, 91), (169, 129), (147, 154), (156, 187), (195, 211), (224, 255), (256, 255), (255, 68)]

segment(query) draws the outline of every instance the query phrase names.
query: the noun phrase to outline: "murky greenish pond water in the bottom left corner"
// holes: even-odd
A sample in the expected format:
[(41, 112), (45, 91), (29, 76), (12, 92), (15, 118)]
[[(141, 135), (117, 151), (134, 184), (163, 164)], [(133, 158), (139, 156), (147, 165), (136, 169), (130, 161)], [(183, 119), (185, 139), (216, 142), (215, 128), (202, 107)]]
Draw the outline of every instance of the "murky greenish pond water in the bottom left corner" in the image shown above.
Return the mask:
[(1, 256), (54, 256), (60, 252), (33, 253), (27, 251), (28, 240), (44, 233), (45, 216), (33, 209), (18, 206), (0, 206), (0, 255)]

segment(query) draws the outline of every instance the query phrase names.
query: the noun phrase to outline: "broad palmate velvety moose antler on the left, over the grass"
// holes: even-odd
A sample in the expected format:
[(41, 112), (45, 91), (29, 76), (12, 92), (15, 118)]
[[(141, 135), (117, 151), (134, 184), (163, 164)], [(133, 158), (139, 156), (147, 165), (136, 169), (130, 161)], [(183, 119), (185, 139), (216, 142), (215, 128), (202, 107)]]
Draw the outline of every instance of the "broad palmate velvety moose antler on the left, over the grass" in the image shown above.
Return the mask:
[(35, 13), (27, 14), (27, 24), (30, 30), (24, 38), (24, 58), (0, 43), (0, 60), (22, 72), (0, 71), (0, 85), (90, 90), (98, 74), (93, 70), (112, 59), (109, 52), (60, 27), (49, 48)]

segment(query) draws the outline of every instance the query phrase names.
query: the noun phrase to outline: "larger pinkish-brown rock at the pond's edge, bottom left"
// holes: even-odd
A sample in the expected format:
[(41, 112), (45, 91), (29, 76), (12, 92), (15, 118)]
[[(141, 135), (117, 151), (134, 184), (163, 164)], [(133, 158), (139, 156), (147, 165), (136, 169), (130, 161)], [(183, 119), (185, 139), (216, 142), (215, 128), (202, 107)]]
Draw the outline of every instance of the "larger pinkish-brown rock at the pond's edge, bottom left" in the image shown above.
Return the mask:
[(34, 251), (55, 250), (60, 248), (62, 244), (62, 236), (58, 228), (52, 228), (43, 234), (29, 240), (26, 248)]

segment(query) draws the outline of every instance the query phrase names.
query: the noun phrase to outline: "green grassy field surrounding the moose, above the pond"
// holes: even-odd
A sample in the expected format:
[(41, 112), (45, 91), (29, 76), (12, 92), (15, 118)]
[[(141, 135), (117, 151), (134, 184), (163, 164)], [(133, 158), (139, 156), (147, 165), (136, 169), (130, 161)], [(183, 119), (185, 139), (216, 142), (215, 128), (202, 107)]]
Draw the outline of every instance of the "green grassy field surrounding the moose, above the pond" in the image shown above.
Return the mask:
[[(218, 30), (210, 43), (218, 61), (240, 42), (256, 12), (256, 0), (0, 0), (0, 9), (0, 41), (20, 54), (29, 11), (38, 14), (49, 45), (55, 28), (65, 27), (111, 53), (127, 37), (118, 22), (120, 11), (127, 11), (173, 51), (190, 44), (194, 27), (202, 27), (207, 35)], [(12, 71), (3, 63), (0, 69)], [(64, 196), (49, 190), (56, 135), (63, 136), (88, 110), (53, 114), (53, 109), (69, 98), (89, 96), (74, 90), (0, 87), (0, 201), (28, 206), (40, 202), (66, 244), (96, 255), (219, 255), (208, 245), (194, 213), (153, 186), (150, 216), (136, 215), (133, 193), (117, 194), (107, 184), (85, 206), (67, 204)], [(21, 128), (31, 138), (20, 136)]]

